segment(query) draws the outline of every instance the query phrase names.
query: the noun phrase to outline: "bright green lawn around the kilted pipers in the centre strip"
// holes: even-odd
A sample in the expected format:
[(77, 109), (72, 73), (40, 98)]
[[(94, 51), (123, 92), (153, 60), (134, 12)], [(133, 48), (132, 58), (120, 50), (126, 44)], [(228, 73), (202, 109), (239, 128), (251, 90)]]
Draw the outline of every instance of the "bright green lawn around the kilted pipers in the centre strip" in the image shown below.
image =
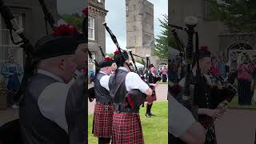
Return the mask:
[[(146, 144), (168, 143), (168, 102), (155, 102), (151, 112), (155, 116), (146, 118), (146, 105), (140, 110), (142, 132)], [(93, 114), (88, 119), (88, 140), (90, 144), (97, 144), (98, 138), (91, 134)]]

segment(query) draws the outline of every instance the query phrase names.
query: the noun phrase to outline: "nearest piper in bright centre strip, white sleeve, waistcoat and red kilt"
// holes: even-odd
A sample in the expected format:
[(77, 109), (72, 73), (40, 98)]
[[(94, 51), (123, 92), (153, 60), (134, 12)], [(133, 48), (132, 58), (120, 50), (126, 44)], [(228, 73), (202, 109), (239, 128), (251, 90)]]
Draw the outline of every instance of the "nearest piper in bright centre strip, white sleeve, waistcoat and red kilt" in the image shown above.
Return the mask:
[(115, 74), (110, 76), (109, 85), (106, 86), (106, 89), (110, 90), (114, 104), (112, 143), (142, 144), (144, 140), (139, 106), (130, 109), (127, 106), (126, 94), (136, 89), (150, 97), (154, 92), (138, 74), (130, 72), (129, 56), (126, 51), (116, 51), (114, 61), (118, 68)]

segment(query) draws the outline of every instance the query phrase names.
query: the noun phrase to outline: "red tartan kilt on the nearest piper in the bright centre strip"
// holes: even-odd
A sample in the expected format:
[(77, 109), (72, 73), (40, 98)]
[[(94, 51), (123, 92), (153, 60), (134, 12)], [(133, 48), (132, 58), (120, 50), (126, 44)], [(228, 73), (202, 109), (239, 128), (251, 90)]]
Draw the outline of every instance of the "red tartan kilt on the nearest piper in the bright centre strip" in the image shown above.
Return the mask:
[(112, 144), (143, 144), (139, 114), (115, 113), (113, 116)]

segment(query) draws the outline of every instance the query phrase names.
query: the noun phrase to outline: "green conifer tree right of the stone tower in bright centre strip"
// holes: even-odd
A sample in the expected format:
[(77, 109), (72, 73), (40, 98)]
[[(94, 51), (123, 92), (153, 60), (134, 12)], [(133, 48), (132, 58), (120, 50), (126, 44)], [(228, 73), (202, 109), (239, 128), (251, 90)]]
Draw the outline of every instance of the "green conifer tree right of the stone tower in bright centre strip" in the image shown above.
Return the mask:
[(173, 38), (168, 39), (168, 16), (166, 14), (163, 15), (163, 20), (158, 18), (158, 21), (161, 23), (161, 27), (163, 30), (161, 31), (161, 34), (158, 35), (158, 38), (155, 38), (155, 49), (154, 49), (154, 55), (158, 56), (162, 60), (168, 59), (168, 47), (173, 47), (178, 49), (178, 46)]

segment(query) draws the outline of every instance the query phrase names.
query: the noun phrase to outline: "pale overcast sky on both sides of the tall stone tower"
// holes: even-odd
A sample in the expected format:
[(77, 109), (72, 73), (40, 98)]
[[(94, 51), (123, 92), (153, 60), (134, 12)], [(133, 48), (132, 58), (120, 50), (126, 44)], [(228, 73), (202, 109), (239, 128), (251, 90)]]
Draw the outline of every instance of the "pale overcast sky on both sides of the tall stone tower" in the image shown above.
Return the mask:
[[(162, 14), (168, 14), (168, 0), (148, 0), (154, 5), (154, 37), (160, 34), (161, 27), (158, 18), (162, 19)], [(117, 37), (119, 46), (126, 48), (126, 0), (106, 0), (106, 23)], [(113, 53), (116, 46), (112, 42), (110, 35), (106, 32), (106, 53)]]

